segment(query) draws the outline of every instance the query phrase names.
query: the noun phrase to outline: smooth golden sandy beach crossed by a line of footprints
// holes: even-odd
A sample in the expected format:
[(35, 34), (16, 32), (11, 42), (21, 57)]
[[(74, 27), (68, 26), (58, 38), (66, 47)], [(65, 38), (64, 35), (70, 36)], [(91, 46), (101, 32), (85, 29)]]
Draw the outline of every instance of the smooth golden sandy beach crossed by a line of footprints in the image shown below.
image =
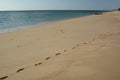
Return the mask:
[(120, 80), (120, 12), (0, 34), (0, 80)]

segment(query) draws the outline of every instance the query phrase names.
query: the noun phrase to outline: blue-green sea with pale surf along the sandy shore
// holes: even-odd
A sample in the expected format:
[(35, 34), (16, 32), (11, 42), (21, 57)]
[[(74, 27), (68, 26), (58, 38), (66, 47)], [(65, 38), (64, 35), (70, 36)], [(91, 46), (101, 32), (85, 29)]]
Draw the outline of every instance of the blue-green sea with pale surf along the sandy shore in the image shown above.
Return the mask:
[(56, 11), (0, 11), (0, 33), (43, 25), (50, 22), (83, 17), (105, 11), (56, 10)]

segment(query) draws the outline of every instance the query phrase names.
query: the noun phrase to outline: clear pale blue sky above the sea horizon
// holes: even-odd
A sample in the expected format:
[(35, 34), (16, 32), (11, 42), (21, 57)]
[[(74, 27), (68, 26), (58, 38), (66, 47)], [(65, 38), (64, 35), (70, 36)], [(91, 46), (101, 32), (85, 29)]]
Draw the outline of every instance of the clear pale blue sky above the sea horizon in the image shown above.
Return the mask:
[(112, 10), (120, 0), (0, 0), (0, 10)]

